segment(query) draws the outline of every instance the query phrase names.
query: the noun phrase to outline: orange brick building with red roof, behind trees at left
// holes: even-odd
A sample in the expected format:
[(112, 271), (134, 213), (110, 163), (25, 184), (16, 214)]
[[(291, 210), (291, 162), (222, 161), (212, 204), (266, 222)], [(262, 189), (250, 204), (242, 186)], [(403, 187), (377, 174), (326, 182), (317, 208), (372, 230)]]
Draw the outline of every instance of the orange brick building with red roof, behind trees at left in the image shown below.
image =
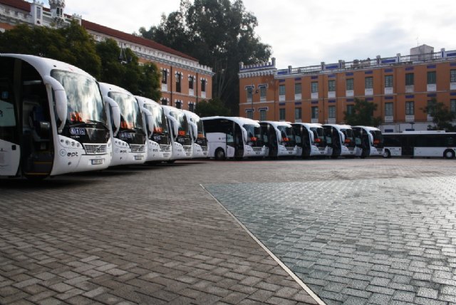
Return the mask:
[(214, 73), (212, 68), (199, 64), (197, 58), (155, 41), (86, 21), (80, 15), (64, 14), (65, 0), (49, 0), (49, 6), (43, 7), (43, 3), (36, 0), (0, 0), (0, 31), (13, 29), (16, 24), (61, 27), (76, 20), (95, 41), (113, 38), (120, 48), (130, 48), (140, 63), (155, 63), (162, 74), (162, 104), (193, 111), (199, 100), (212, 98)]

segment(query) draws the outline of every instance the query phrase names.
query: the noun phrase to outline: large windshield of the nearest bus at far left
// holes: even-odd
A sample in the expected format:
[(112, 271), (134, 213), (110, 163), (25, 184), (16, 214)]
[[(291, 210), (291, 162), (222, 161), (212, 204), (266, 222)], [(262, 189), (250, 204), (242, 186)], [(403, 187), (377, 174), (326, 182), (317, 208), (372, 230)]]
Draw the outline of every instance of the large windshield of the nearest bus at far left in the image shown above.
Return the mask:
[(65, 88), (68, 103), (67, 122), (70, 125), (102, 123), (105, 127), (108, 126), (105, 104), (95, 80), (61, 70), (51, 71), (51, 76)]

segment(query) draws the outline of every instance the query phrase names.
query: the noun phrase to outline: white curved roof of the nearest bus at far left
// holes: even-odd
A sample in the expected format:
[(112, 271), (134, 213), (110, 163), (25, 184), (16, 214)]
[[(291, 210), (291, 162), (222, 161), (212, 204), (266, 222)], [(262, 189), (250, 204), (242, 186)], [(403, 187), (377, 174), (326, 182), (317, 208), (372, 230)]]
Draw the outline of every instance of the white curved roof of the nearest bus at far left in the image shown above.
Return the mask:
[(78, 73), (83, 76), (87, 76), (88, 78), (93, 78), (89, 73), (83, 71), (81, 68), (73, 66), (69, 63), (64, 63), (63, 61), (56, 61), (55, 59), (46, 58), (46, 57), (39, 57), (34, 55), (27, 55), (27, 54), (11, 54), (11, 53), (0, 53), (0, 57), (10, 57), (10, 58), (18, 58), (27, 63), (30, 63), (33, 68), (36, 68), (38, 73), (41, 76), (47, 76), (50, 74), (52, 70), (61, 70), (61, 71), (68, 71), (73, 73)]

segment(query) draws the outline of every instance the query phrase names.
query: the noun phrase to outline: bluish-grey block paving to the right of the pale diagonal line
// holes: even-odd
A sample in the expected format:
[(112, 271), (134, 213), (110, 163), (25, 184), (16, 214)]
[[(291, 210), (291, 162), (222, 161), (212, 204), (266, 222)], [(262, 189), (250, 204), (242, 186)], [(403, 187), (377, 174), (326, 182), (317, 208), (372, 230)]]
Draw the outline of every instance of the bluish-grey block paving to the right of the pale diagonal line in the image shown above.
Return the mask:
[(205, 187), (327, 304), (456, 304), (454, 162), (417, 162)]

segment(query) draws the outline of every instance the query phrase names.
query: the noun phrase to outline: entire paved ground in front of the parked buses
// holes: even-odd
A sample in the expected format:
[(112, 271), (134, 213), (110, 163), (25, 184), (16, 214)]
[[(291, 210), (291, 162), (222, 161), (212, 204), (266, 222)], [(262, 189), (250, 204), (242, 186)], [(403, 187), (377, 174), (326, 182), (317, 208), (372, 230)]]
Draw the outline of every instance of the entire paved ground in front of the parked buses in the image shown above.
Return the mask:
[(195, 160), (3, 179), (0, 304), (456, 304), (455, 169)]

